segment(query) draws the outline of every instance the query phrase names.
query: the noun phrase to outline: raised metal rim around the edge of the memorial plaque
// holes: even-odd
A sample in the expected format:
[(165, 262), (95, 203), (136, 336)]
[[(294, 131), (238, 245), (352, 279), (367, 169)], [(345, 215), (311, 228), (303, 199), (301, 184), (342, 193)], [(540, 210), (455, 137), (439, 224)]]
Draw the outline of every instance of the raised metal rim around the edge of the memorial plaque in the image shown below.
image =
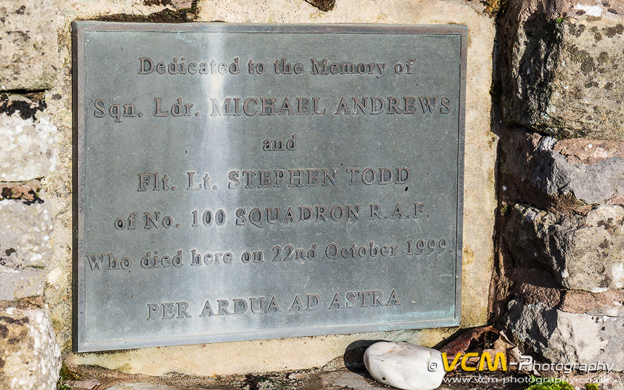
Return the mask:
[[(455, 250), (455, 313), (452, 318), (417, 320), (389, 324), (360, 324), (326, 327), (297, 327), (284, 330), (256, 330), (253, 332), (232, 332), (204, 336), (164, 337), (150, 339), (124, 339), (111, 342), (86, 342), (84, 321), (84, 131), (82, 115), (85, 108), (84, 96), (84, 33), (85, 32), (228, 32), (228, 33), (306, 33), (306, 34), (432, 34), (458, 35), (461, 38), (460, 91), (457, 136), (457, 245)], [(460, 325), (462, 286), (462, 238), (464, 210), (464, 131), (466, 115), (466, 71), (467, 71), (468, 27), (465, 25), (364, 25), (364, 24), (262, 24), (193, 22), (140, 23), (140, 22), (72, 22), (72, 351), (112, 351), (116, 349), (174, 346), (185, 344), (207, 344), (255, 339), (281, 339), (285, 337), (320, 336), (327, 334), (349, 334), (359, 332), (383, 332), (433, 327), (455, 327)], [(401, 324), (410, 324), (401, 326)]]

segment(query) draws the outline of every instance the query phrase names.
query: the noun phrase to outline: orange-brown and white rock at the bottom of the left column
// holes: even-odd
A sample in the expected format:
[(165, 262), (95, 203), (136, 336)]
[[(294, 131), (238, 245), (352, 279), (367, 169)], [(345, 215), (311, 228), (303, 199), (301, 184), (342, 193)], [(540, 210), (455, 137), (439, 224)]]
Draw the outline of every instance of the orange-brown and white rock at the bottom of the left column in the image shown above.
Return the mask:
[(47, 307), (0, 306), (0, 389), (56, 389), (60, 364)]

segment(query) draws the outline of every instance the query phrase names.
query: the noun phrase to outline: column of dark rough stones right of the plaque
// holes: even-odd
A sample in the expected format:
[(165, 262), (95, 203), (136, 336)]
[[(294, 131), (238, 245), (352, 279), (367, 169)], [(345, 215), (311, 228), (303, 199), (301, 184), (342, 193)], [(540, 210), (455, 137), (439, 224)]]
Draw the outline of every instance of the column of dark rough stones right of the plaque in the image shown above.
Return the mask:
[(498, 21), (495, 314), (553, 363), (624, 370), (624, 8), (585, 3), (514, 0)]

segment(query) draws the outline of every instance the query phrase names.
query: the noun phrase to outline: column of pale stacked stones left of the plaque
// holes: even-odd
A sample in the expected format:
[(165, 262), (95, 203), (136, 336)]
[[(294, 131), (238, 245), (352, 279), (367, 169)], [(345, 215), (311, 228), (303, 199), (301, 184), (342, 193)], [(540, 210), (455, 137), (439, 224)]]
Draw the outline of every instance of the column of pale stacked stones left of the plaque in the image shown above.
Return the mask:
[(44, 98), (58, 66), (56, 12), (1, 0), (0, 15), (0, 388), (53, 389), (60, 349), (43, 295), (55, 212), (41, 181), (57, 157)]

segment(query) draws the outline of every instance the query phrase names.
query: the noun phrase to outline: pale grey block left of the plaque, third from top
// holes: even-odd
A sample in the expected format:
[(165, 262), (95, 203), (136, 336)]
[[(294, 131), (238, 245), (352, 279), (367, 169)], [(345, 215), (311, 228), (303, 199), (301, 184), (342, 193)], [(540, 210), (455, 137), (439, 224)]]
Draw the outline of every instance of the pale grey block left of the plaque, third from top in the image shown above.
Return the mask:
[(48, 204), (0, 200), (0, 226), (0, 300), (43, 294), (43, 268), (53, 251)]

